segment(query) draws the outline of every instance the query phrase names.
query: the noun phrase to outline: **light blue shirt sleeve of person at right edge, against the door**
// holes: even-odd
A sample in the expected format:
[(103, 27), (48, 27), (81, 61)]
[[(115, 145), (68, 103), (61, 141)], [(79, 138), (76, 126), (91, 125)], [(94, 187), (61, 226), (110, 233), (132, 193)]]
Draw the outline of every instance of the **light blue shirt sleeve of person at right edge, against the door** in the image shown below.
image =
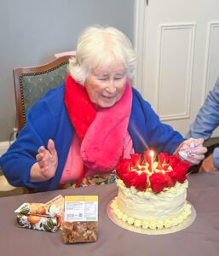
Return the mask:
[(187, 137), (208, 139), (212, 132), (219, 125), (219, 78), (213, 90), (210, 90), (205, 103), (200, 108), (199, 113), (190, 125)]

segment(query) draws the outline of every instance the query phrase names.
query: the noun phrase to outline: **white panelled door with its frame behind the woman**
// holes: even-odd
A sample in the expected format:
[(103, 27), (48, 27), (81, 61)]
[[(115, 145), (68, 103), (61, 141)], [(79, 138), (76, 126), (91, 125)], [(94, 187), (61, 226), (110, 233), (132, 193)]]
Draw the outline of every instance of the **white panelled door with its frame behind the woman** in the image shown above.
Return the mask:
[(135, 87), (182, 135), (219, 76), (218, 45), (218, 0), (135, 1)]

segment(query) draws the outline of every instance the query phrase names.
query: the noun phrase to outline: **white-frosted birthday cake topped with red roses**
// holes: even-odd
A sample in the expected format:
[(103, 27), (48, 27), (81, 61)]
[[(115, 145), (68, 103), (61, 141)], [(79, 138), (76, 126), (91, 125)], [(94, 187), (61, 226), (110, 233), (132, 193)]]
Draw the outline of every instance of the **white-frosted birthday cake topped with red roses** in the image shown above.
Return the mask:
[(118, 196), (111, 208), (116, 218), (143, 229), (182, 224), (191, 214), (187, 203), (189, 165), (176, 155), (161, 153), (158, 160), (147, 150), (119, 162)]

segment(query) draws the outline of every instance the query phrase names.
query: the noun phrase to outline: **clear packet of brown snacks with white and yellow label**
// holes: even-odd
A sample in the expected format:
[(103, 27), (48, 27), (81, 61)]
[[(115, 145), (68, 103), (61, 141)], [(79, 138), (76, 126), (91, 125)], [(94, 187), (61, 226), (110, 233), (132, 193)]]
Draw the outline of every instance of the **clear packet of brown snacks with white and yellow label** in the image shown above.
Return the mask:
[(96, 241), (98, 196), (66, 196), (62, 241), (66, 244)]

